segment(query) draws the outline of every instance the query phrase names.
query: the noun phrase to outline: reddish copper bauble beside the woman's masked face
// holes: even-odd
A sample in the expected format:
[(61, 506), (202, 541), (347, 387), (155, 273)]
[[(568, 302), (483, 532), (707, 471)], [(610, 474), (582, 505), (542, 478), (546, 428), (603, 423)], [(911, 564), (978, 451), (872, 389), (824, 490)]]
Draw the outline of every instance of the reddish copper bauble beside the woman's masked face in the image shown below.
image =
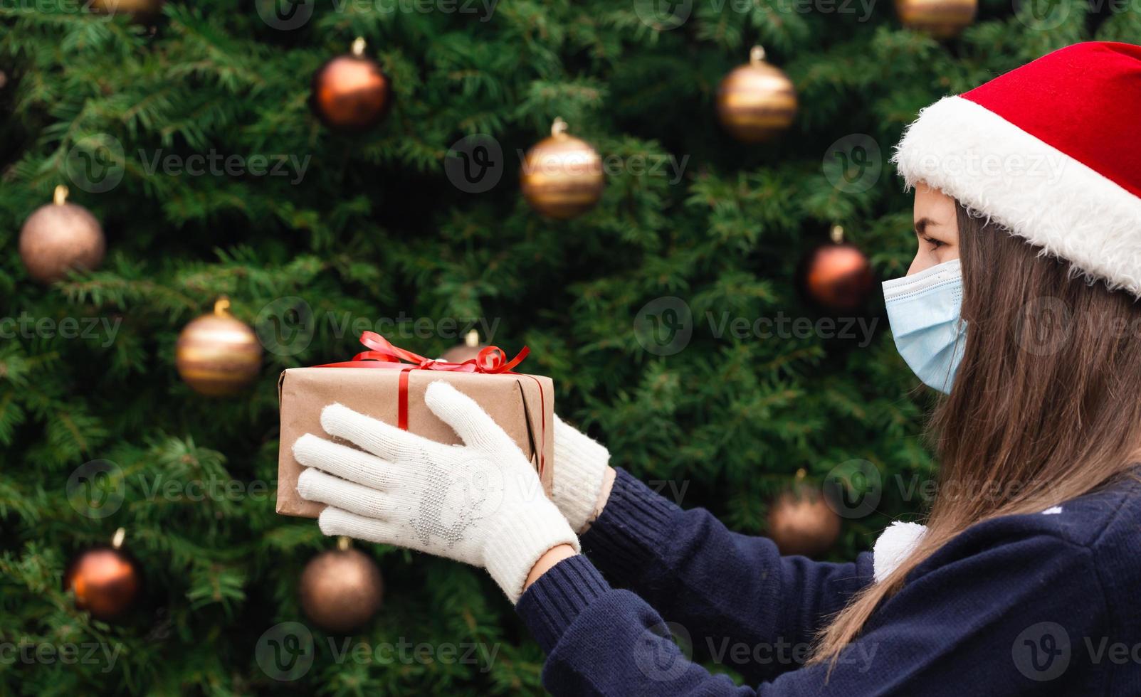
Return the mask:
[(825, 308), (851, 311), (867, 301), (875, 277), (864, 252), (842, 240), (842, 230), (834, 228), (833, 241), (812, 250), (803, 262), (804, 286)]

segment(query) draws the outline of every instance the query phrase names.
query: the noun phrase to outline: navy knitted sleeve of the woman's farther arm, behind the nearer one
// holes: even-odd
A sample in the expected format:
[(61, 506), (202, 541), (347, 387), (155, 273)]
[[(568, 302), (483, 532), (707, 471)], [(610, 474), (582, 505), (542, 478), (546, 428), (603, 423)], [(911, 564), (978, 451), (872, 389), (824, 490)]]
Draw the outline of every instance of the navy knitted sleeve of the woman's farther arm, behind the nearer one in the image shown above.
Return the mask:
[[(683, 511), (624, 470), (582, 545), (612, 583), (686, 625), (701, 657), (737, 642), (804, 647), (872, 580), (871, 554), (853, 564), (782, 557), (770, 540), (730, 533), (704, 509)], [(795, 667), (725, 660), (754, 681)]]

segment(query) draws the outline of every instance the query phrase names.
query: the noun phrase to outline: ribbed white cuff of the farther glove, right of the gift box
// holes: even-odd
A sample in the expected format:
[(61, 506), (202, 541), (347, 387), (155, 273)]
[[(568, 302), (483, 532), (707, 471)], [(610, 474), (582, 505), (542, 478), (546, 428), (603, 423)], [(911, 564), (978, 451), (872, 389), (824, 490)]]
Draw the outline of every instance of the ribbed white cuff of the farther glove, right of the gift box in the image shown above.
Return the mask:
[(597, 513), (609, 461), (606, 447), (555, 415), (551, 500), (576, 533), (582, 533)]

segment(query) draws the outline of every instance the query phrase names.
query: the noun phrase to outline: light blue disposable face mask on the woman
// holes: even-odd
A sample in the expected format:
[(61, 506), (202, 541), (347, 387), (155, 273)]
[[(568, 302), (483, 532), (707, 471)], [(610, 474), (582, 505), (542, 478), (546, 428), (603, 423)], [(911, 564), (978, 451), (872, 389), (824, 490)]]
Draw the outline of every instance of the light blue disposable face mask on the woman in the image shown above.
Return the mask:
[(949, 395), (966, 347), (958, 259), (884, 281), (883, 299), (899, 355), (923, 384)]

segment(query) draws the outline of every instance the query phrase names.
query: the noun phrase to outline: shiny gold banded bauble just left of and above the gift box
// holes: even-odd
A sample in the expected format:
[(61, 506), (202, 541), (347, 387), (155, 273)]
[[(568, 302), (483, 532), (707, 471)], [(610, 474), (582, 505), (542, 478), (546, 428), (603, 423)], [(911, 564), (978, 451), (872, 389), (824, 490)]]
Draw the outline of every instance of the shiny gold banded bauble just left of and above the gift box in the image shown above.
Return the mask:
[(258, 376), (261, 345), (244, 322), (219, 299), (212, 315), (202, 315), (183, 329), (175, 345), (178, 374), (196, 392), (210, 397), (233, 395)]

